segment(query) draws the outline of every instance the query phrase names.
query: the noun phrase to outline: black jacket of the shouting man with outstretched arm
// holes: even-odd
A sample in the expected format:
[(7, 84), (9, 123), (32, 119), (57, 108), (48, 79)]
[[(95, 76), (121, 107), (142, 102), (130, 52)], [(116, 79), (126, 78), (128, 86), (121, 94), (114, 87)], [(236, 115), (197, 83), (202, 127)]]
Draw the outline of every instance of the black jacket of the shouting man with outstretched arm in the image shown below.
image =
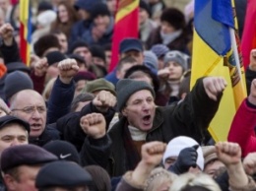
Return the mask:
[[(168, 143), (177, 136), (189, 136), (201, 143), (204, 133), (218, 110), (221, 95), (218, 101), (210, 99), (205, 93), (203, 80), (200, 79), (192, 92), (178, 103), (157, 107), (153, 128), (147, 134), (146, 141), (161, 141)], [(125, 117), (121, 118), (109, 131), (112, 140), (111, 156), (108, 160), (108, 171), (111, 176), (119, 176), (127, 170), (126, 154), (122, 137), (128, 123)], [(128, 148), (130, 150), (130, 148)]]

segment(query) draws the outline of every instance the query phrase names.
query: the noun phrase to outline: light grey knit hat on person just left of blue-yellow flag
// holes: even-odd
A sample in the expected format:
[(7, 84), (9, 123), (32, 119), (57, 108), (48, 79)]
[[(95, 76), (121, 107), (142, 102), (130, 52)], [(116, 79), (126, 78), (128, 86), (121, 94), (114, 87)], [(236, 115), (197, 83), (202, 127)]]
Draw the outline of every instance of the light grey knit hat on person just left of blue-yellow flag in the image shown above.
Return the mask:
[(164, 65), (166, 65), (169, 61), (176, 62), (183, 68), (183, 71), (185, 71), (188, 69), (188, 57), (189, 56), (178, 50), (172, 50), (165, 54), (163, 58), (163, 63)]

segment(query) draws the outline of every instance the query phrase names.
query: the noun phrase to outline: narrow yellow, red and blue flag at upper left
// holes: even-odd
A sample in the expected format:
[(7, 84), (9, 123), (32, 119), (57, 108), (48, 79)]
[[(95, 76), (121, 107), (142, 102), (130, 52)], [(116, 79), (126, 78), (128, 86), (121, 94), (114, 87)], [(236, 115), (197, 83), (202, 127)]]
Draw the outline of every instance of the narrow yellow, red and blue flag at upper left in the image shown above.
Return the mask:
[(30, 65), (32, 42), (32, 9), (30, 0), (20, 0), (20, 54), (27, 66)]

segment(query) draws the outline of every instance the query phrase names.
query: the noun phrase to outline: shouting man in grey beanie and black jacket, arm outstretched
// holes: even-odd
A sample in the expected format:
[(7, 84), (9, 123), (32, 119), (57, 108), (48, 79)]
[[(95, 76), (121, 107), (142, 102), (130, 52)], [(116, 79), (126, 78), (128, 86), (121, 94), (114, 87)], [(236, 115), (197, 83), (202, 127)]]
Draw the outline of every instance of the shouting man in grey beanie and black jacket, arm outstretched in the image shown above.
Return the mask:
[[(112, 162), (109, 163), (111, 176), (133, 169), (140, 160), (141, 146), (146, 142), (160, 140), (167, 143), (176, 136), (186, 135), (201, 143), (202, 133), (218, 109), (225, 86), (223, 78), (199, 79), (191, 94), (180, 103), (156, 107), (152, 86), (129, 79), (119, 81), (117, 109), (122, 117), (108, 132), (113, 143)], [(208, 102), (204, 108), (202, 101)], [(122, 164), (124, 160), (126, 165)]]

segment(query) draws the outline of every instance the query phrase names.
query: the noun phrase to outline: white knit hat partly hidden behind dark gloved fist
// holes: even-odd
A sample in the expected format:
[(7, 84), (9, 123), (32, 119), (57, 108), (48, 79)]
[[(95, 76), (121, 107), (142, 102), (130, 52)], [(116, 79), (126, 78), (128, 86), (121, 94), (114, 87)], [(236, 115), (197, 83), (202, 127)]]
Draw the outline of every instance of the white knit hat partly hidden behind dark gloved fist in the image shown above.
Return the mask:
[[(199, 144), (194, 139), (186, 136), (179, 136), (170, 140), (163, 154), (162, 162), (164, 163), (165, 159), (168, 158), (177, 158), (181, 150), (195, 145)], [(204, 169), (204, 157), (201, 147), (197, 149), (197, 165), (201, 170)]]

